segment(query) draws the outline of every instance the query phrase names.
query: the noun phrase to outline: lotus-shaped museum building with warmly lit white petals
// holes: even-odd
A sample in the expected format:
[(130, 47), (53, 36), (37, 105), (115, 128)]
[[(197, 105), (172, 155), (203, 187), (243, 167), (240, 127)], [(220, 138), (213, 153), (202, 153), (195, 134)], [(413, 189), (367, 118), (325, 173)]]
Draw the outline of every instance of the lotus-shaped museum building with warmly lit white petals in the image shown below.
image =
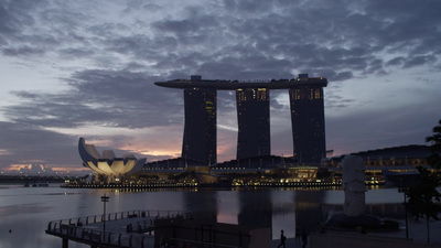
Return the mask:
[(84, 138), (79, 138), (78, 152), (83, 160), (83, 165), (89, 168), (98, 175), (107, 176), (108, 181), (139, 171), (146, 163), (146, 159), (138, 160), (132, 154), (117, 158), (111, 150), (103, 151), (99, 154), (94, 144), (86, 144)]

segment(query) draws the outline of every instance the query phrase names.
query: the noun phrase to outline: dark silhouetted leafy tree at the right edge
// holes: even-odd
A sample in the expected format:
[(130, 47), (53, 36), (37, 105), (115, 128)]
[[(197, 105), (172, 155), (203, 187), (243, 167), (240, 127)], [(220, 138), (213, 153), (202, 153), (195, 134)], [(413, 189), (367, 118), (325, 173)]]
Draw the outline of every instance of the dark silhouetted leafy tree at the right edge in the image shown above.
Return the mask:
[(441, 213), (441, 205), (435, 202), (440, 202), (441, 194), (437, 191), (440, 185), (438, 176), (431, 173), (423, 166), (418, 166), (417, 170), (420, 173), (419, 184), (409, 187), (407, 196), (407, 209), (418, 220), (419, 217), (426, 218), (427, 227), (427, 240), (430, 241), (430, 228), (429, 220), (433, 218), (439, 220), (438, 213)]

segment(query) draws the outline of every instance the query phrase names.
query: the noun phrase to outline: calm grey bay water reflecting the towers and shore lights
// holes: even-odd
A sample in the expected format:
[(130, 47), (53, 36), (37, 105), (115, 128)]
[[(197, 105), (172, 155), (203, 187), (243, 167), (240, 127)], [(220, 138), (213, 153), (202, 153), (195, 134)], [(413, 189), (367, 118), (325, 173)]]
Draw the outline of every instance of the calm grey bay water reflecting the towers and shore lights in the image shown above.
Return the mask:
[[(133, 209), (183, 211), (200, 218), (239, 225), (272, 227), (273, 238), (284, 229), (294, 236), (295, 224), (314, 229), (319, 222), (342, 211), (343, 191), (268, 188), (257, 191), (115, 190), (23, 187), (0, 185), (0, 247), (60, 248), (60, 238), (44, 233), (47, 223), (103, 214), (100, 196), (110, 196), (107, 213)], [(402, 218), (404, 196), (397, 188), (369, 190), (366, 212)], [(88, 247), (69, 242), (69, 247)]]

